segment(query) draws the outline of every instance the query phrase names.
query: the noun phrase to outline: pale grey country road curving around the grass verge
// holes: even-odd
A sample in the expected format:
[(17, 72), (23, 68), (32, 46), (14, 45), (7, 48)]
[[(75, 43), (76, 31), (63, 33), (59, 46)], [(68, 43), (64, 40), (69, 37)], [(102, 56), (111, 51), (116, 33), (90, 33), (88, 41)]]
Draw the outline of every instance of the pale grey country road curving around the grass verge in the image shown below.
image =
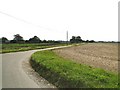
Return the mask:
[(60, 46), (47, 49), (30, 50), (24, 52), (6, 53), (2, 55), (2, 88), (50, 88), (43, 82), (39, 85), (32, 80), (23, 70), (22, 63), (29, 61), (30, 56), (36, 51), (65, 48)]

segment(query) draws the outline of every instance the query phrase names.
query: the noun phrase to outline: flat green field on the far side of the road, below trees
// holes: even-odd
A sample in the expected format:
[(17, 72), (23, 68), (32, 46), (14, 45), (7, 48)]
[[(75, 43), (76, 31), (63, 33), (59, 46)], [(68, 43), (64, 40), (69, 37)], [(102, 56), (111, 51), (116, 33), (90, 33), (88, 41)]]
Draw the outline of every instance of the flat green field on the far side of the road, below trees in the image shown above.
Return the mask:
[(0, 44), (0, 53), (9, 53), (9, 52), (18, 52), (18, 51), (27, 51), (33, 49), (43, 49), (54, 46), (60, 46), (65, 44), (49, 44), (49, 43), (40, 43), (40, 44)]

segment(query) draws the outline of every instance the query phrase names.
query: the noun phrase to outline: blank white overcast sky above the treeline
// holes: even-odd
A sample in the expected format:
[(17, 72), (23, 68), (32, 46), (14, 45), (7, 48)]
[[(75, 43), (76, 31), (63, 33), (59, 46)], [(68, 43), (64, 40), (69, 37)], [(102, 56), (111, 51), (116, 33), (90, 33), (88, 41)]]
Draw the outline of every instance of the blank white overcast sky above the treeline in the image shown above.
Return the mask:
[(0, 37), (118, 41), (119, 0), (0, 0)]

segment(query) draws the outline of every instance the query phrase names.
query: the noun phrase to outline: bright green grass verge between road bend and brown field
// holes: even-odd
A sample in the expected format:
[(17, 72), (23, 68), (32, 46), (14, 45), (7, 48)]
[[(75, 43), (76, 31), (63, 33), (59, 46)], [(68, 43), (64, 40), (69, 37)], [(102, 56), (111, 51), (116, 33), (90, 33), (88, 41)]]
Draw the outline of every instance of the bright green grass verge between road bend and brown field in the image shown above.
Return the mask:
[(77, 64), (53, 51), (32, 55), (32, 67), (58, 88), (118, 88), (118, 76), (109, 71)]

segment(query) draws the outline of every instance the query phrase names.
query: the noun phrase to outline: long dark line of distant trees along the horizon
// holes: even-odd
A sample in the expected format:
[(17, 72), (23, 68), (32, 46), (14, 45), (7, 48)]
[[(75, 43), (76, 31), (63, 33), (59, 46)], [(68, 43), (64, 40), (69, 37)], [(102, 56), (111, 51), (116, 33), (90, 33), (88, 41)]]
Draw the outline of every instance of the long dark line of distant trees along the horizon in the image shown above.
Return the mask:
[[(8, 40), (6, 37), (0, 38), (0, 43), (115, 43), (115, 41), (94, 41), (82, 40), (80, 36), (72, 36), (70, 41), (55, 41), (55, 40), (40, 40), (39, 37), (34, 36), (29, 40), (24, 40), (20, 34), (14, 35), (13, 40)], [(120, 42), (119, 42), (120, 43)]]

